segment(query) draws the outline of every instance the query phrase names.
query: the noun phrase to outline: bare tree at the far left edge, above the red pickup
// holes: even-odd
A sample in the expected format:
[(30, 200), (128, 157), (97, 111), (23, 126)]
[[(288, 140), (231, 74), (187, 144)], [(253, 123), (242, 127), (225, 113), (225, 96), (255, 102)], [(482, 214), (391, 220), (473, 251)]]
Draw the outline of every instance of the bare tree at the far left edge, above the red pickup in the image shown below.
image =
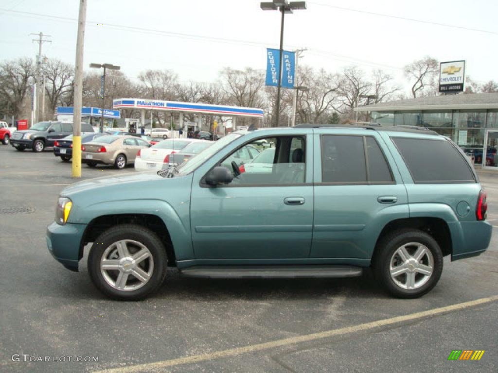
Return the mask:
[(0, 112), (19, 117), (33, 74), (33, 62), (28, 58), (0, 64)]

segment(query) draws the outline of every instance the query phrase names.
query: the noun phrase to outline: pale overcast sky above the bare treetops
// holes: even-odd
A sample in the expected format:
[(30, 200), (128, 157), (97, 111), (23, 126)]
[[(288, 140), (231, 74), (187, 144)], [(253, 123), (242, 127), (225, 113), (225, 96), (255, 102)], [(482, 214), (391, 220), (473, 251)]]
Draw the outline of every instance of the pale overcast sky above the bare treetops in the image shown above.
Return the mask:
[[(78, 0), (0, 0), (0, 60), (34, 57), (38, 44), (29, 34), (42, 31), (52, 36), (43, 54), (74, 65), (78, 6)], [(308, 49), (301, 63), (329, 72), (381, 68), (406, 86), (402, 67), (430, 55), (465, 59), (474, 80), (498, 81), (497, 1), (316, 0), (307, 6), (285, 17), (284, 48)], [(212, 82), (227, 66), (265, 69), (265, 48), (278, 48), (279, 32), (279, 12), (262, 11), (256, 0), (88, 0), (84, 61), (120, 65), (134, 79), (146, 69), (170, 69), (181, 81)]]

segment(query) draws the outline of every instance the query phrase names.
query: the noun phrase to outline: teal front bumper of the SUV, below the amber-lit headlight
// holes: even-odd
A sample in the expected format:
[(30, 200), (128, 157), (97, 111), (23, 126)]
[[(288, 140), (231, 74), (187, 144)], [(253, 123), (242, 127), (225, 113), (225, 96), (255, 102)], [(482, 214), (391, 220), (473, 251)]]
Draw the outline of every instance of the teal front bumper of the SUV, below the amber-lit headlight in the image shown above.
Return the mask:
[(55, 221), (47, 227), (47, 248), (55, 260), (71, 271), (78, 271), (81, 259), (81, 240), (86, 224), (59, 225)]

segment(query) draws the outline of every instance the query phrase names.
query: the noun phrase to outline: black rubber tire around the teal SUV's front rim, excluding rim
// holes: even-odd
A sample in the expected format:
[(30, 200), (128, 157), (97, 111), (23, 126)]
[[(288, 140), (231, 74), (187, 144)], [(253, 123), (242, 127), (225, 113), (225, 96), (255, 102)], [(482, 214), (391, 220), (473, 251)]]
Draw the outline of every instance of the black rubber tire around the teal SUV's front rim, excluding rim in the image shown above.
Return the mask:
[[(153, 270), (151, 270), (149, 280), (135, 290), (124, 291), (113, 287), (104, 279), (100, 268), (101, 259), (106, 249), (121, 240), (133, 240), (144, 245), (149, 250), (153, 260)], [(139, 225), (122, 224), (109, 228), (95, 239), (88, 256), (88, 271), (95, 286), (108, 297), (116, 300), (140, 300), (156, 291), (164, 282), (167, 263), (166, 249), (154, 232)], [(121, 271), (116, 270), (116, 272)], [(130, 280), (132, 281), (134, 278), (132, 277)]]

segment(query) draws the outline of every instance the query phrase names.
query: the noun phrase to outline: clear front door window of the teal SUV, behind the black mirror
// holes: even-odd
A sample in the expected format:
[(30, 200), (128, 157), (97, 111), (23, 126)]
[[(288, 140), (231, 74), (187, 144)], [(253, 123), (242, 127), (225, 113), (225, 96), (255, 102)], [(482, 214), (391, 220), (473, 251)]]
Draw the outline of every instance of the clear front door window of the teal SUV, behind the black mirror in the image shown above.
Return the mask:
[[(241, 146), (220, 163), (234, 176), (229, 187), (303, 184), (305, 136), (278, 136), (264, 140)], [(251, 152), (257, 154), (252, 158)]]

